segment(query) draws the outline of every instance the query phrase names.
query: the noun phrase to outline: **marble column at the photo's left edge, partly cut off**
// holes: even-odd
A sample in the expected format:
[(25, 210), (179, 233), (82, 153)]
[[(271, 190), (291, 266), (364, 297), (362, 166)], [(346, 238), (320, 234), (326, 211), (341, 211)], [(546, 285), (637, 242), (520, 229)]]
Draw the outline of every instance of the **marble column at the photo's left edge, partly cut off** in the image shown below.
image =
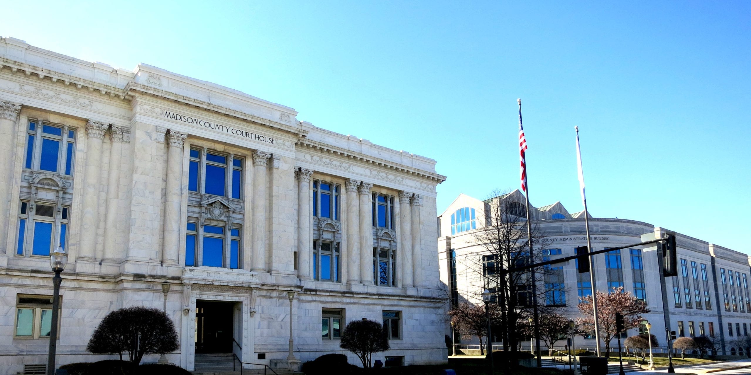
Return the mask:
[(18, 104), (0, 101), (0, 252), (5, 252), (8, 242), (8, 220), (11, 215), (10, 209), (11, 182), (13, 181), (13, 140), (16, 138), (18, 113), (21, 106)]

